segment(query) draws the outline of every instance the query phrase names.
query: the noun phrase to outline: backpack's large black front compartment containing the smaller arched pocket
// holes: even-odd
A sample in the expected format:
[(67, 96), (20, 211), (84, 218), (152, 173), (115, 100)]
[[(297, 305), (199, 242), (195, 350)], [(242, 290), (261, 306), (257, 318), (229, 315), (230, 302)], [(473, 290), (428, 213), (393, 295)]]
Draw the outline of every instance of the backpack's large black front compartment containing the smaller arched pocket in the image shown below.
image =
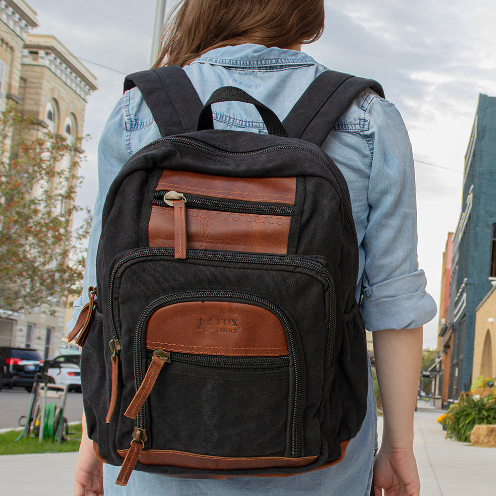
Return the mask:
[[(178, 260), (173, 248), (143, 248), (116, 260), (109, 297), (122, 345), (119, 453), (136, 426), (124, 412), (155, 361), (137, 401), (137, 428), (148, 437), (140, 461), (168, 465), (164, 453), (187, 452), (220, 459), (222, 469), (234, 459), (255, 468), (255, 457), (272, 467), (313, 463), (323, 370), (334, 354), (332, 279), (320, 260), (216, 250)], [(273, 367), (276, 357), (286, 364)]]

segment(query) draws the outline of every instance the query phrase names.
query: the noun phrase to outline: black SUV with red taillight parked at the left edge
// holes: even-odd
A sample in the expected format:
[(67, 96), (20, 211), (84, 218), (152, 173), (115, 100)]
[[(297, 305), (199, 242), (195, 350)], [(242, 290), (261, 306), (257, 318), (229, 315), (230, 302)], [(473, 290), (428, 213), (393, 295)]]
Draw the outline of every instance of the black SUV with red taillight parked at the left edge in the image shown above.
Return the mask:
[(0, 389), (22, 386), (31, 391), (42, 365), (43, 359), (36, 350), (0, 346)]

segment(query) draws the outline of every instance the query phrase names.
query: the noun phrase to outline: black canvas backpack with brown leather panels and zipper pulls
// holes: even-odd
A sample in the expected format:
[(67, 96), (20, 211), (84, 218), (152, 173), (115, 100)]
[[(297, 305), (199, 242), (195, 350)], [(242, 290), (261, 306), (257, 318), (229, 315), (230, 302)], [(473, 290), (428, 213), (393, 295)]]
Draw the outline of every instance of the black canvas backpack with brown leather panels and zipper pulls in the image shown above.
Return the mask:
[[(162, 138), (103, 210), (97, 289), (69, 335), (97, 455), (176, 477), (287, 476), (341, 461), (367, 410), (358, 244), (320, 149), (378, 83), (326, 71), (281, 123), (239, 88), (203, 106), (178, 66), (127, 76)], [(213, 129), (253, 104), (268, 134)]]

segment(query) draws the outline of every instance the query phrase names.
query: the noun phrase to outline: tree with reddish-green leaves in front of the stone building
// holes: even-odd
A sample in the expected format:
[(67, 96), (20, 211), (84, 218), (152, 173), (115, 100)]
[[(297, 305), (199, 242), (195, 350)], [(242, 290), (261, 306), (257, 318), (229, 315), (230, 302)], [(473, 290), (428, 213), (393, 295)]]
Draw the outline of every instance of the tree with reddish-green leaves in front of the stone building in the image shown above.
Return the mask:
[(79, 292), (84, 269), (89, 211), (72, 230), (81, 210), (76, 143), (36, 125), (13, 107), (0, 114), (0, 309), (8, 312), (59, 306)]

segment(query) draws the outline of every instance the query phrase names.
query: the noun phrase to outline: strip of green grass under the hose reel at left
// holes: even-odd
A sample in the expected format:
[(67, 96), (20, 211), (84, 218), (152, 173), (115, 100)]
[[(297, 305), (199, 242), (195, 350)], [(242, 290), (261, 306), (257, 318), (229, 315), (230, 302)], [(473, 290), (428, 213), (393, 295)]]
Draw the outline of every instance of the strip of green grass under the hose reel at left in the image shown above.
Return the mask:
[(0, 455), (77, 451), (81, 440), (81, 432), (81, 424), (70, 425), (67, 440), (62, 441), (61, 444), (57, 444), (57, 440), (54, 439), (43, 439), (42, 442), (38, 442), (38, 437), (35, 438), (33, 434), (14, 442), (21, 431), (8, 431), (0, 434)]

